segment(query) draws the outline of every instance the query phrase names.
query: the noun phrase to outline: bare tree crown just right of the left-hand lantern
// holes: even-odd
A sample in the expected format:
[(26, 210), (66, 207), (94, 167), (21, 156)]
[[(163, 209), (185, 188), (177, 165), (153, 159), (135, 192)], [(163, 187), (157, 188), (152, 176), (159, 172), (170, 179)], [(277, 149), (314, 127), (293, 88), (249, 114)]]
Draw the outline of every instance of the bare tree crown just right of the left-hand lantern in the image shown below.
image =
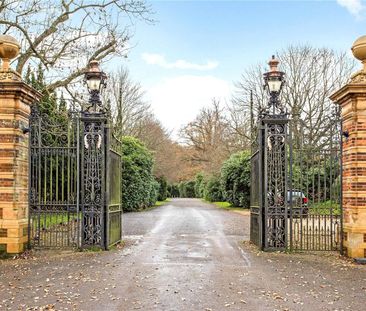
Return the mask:
[(113, 131), (117, 136), (139, 136), (148, 120), (151, 120), (150, 105), (144, 99), (141, 85), (134, 82), (126, 68), (120, 68), (109, 77), (108, 88), (104, 92), (104, 102), (108, 102), (113, 119)]

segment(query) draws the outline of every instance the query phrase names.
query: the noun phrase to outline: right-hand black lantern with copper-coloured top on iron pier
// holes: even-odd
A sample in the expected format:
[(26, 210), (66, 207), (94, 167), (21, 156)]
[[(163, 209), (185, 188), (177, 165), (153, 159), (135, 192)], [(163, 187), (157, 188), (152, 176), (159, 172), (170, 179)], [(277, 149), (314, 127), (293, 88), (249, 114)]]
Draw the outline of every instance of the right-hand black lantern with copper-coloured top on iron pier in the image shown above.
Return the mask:
[(267, 110), (272, 108), (273, 114), (275, 114), (276, 108), (279, 109), (280, 113), (284, 113), (284, 109), (279, 101), (279, 95), (285, 83), (285, 73), (278, 70), (279, 63), (275, 56), (272, 55), (272, 59), (268, 62), (270, 71), (263, 75), (264, 88), (267, 89), (270, 96)]

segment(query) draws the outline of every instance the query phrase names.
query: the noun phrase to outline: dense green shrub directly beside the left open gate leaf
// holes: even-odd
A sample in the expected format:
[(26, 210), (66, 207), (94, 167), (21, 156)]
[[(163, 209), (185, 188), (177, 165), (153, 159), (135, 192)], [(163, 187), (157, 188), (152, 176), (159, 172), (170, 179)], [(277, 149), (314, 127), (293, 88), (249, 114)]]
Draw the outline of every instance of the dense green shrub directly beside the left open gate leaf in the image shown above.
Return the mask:
[(136, 138), (122, 139), (122, 207), (136, 211), (155, 204), (159, 184), (152, 174), (153, 156)]

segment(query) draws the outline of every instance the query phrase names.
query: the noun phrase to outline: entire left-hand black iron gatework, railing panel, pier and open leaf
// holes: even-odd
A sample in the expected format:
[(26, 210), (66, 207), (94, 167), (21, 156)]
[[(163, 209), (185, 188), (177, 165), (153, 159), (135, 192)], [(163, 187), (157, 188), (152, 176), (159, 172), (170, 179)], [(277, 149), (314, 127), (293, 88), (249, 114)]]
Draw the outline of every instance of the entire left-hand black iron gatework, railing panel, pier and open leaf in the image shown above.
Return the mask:
[(30, 247), (108, 248), (121, 240), (121, 145), (109, 135), (105, 113), (51, 117), (32, 107)]

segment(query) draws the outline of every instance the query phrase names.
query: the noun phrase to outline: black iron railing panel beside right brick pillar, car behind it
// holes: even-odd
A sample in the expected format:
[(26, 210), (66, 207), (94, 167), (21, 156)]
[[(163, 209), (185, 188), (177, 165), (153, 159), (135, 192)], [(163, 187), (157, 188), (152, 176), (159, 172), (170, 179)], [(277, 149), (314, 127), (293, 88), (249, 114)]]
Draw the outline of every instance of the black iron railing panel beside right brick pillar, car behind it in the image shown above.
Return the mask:
[(291, 122), (290, 249), (342, 250), (341, 123), (337, 113), (311, 146), (301, 120)]

